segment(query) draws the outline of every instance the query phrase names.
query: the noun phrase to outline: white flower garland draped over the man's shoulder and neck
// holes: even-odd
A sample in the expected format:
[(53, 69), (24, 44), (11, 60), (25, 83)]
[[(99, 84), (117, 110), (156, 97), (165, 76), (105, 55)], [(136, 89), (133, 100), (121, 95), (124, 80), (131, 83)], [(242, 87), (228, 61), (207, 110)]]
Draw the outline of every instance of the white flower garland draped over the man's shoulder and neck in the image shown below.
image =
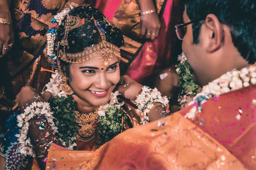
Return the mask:
[(248, 87), (256, 84), (256, 65), (244, 67), (240, 71), (234, 69), (223, 74), (220, 78), (208, 83), (202, 88), (202, 92), (197, 94), (189, 105), (193, 108), (185, 115), (186, 118), (195, 120), (197, 114), (202, 111), (204, 104), (211, 97), (218, 97), (221, 94)]

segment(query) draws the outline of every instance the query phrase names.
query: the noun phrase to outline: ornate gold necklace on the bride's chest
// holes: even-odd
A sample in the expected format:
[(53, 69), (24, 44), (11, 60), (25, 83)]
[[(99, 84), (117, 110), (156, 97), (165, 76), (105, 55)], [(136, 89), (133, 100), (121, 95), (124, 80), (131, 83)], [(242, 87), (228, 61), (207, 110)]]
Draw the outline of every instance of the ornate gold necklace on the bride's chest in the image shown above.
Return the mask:
[(79, 141), (87, 142), (95, 138), (95, 129), (99, 122), (98, 110), (99, 107), (91, 113), (80, 113), (79, 111), (75, 111), (76, 124), (79, 127), (76, 138)]

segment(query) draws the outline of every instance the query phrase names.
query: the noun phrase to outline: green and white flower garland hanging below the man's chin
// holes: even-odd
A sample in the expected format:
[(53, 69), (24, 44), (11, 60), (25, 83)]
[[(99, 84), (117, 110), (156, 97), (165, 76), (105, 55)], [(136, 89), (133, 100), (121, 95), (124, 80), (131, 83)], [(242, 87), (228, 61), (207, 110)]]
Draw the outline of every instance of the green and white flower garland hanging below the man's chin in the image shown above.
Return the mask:
[(179, 76), (179, 96), (178, 102), (181, 108), (184, 108), (186, 104), (193, 100), (193, 97), (200, 92), (200, 87), (193, 81), (193, 69), (188, 63), (188, 60), (184, 53), (178, 56), (180, 61), (175, 67)]

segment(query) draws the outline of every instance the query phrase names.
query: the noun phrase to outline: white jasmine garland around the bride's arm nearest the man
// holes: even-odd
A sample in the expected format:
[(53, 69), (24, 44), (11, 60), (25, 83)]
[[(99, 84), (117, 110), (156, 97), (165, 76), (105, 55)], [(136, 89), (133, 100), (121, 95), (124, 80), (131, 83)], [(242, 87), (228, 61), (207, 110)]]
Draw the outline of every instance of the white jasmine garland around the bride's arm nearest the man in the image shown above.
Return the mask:
[(161, 96), (161, 93), (155, 88), (150, 89), (147, 86), (142, 87), (142, 92), (135, 100), (137, 111), (141, 114), (141, 123), (147, 124), (149, 122), (148, 112), (153, 108), (153, 103), (162, 103), (167, 106), (169, 103), (166, 96)]

